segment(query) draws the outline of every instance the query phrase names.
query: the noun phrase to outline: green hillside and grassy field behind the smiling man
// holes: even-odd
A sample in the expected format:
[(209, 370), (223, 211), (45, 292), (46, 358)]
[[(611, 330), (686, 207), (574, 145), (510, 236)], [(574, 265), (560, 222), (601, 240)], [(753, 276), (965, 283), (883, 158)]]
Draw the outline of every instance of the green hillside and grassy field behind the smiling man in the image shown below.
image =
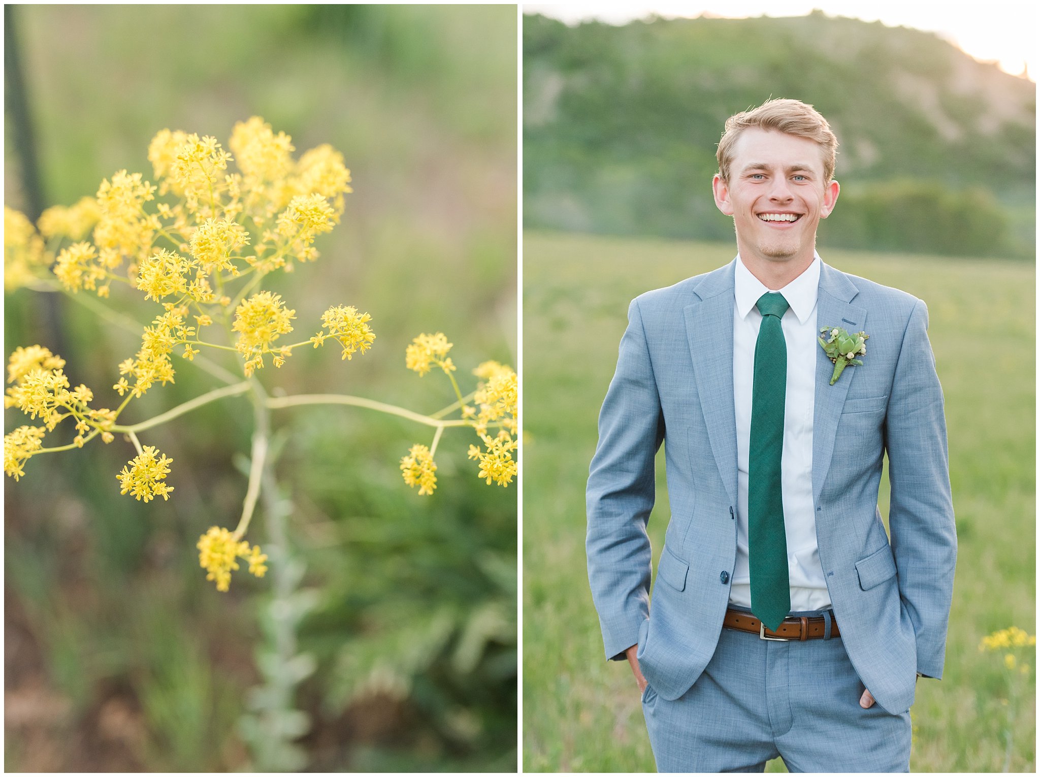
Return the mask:
[[(635, 681), (626, 664), (603, 661), (589, 592), (584, 486), (596, 419), (628, 302), (733, 258), (732, 219), (711, 202), (714, 144), (727, 116), (772, 95), (815, 104), (842, 144), (841, 198), (820, 235), (824, 260), (929, 306), (959, 555), (943, 679), (919, 680), (911, 708), (911, 771), (1035, 771), (1035, 648), (1019, 649), (1014, 671), (1000, 652), (979, 650), (998, 629), (1036, 629), (1036, 274), (1021, 260), (1032, 248), (1014, 248), (1016, 234), (1033, 239), (1035, 85), (962, 61), (926, 33), (818, 14), (523, 23), (524, 768), (654, 770)], [(908, 72), (922, 80), (908, 83), (943, 96), (948, 74), (962, 72), (952, 68), (995, 84), (960, 103), (966, 114), (981, 121), (1006, 100), (1010, 113), (997, 115), (1024, 123), (1011, 122), (992, 143), (944, 144), (927, 111), (885, 80), (915, 69)], [(896, 172), (904, 180), (890, 178)], [(870, 192), (888, 204), (857, 212)], [(943, 198), (989, 203), (969, 209), (981, 231), (968, 229), (971, 221), (973, 237), (932, 240), (929, 219), (956, 210)], [(971, 242), (993, 227), (993, 208), (1008, 215), (1000, 234), (1010, 242)], [(868, 213), (891, 229), (849, 227), (867, 224)], [(893, 224), (889, 215), (901, 213)], [(858, 250), (835, 248), (842, 240)], [(664, 450), (656, 471), (655, 564), (669, 520)], [(886, 522), (887, 499), (886, 477)]]

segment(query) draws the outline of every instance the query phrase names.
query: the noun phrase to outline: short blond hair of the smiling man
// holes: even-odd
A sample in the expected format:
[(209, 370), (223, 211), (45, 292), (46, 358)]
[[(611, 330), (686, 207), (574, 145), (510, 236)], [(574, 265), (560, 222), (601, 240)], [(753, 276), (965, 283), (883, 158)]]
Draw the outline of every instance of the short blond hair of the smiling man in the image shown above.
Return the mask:
[(726, 130), (722, 133), (719, 150), (716, 152), (719, 176), (722, 180), (729, 181), (733, 146), (748, 127), (777, 130), (813, 140), (824, 153), (824, 183), (829, 183), (834, 177), (834, 158), (837, 154), (838, 139), (820, 111), (801, 100), (766, 100), (757, 108), (745, 110), (726, 120)]

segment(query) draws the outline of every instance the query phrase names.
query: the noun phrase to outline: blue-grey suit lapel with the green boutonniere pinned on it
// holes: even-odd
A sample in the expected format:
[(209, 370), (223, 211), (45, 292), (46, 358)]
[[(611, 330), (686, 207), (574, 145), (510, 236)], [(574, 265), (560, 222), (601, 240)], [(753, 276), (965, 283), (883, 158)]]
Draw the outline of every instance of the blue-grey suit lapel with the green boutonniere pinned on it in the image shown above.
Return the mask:
[[(859, 290), (843, 273), (823, 264), (820, 268), (820, 293), (816, 297), (816, 330), (842, 327), (852, 332), (866, 328), (866, 309), (851, 305)], [(846, 367), (837, 383), (831, 386), (834, 364), (816, 344), (815, 407), (812, 415), (812, 498), (820, 498), (824, 481), (831, 466), (838, 419), (849, 387), (856, 380), (858, 367)]]

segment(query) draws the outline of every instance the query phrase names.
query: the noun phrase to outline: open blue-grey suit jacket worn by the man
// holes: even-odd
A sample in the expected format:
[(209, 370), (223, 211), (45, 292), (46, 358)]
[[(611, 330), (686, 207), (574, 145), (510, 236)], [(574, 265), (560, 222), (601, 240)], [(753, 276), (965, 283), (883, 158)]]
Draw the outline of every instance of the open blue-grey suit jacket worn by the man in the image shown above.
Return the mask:
[[(589, 579), (608, 658), (639, 645), (672, 700), (714, 652), (736, 559), (734, 262), (632, 301), (590, 467)], [(916, 673), (942, 676), (957, 535), (942, 389), (928, 309), (824, 264), (820, 327), (869, 336), (862, 366), (830, 385), (817, 346), (812, 433), (816, 540), (834, 617), (860, 679), (892, 714)], [(646, 524), (665, 443), (672, 516), (650, 606)], [(887, 451), (891, 544), (878, 511)]]

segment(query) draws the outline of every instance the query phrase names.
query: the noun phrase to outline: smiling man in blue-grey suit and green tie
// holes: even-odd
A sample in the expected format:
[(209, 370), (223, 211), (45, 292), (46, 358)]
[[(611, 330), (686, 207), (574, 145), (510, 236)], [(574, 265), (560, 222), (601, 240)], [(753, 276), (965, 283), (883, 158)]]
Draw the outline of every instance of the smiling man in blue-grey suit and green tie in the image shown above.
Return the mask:
[(712, 185), (737, 257), (628, 310), (587, 550), (658, 771), (908, 771), (916, 677), (942, 676), (957, 537), (928, 310), (815, 253), (836, 147), (796, 100), (729, 119)]

